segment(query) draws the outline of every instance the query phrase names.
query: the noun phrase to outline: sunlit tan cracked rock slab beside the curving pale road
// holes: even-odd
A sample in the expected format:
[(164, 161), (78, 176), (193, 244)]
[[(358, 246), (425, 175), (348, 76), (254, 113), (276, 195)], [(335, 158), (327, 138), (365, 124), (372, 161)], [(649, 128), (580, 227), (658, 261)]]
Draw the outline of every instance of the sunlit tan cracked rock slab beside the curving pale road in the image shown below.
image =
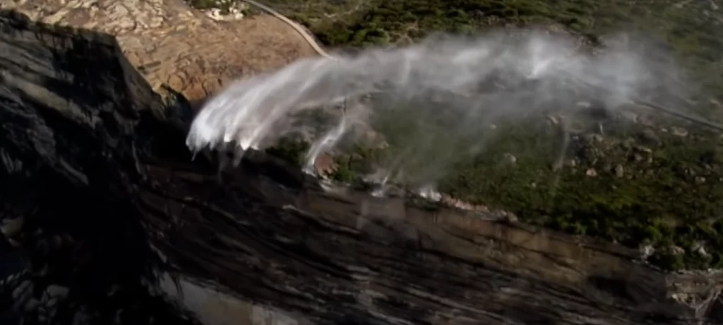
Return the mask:
[(166, 84), (199, 101), (229, 81), (315, 51), (275, 17), (218, 22), (182, 0), (8, 0), (32, 20), (116, 35), (154, 89)]

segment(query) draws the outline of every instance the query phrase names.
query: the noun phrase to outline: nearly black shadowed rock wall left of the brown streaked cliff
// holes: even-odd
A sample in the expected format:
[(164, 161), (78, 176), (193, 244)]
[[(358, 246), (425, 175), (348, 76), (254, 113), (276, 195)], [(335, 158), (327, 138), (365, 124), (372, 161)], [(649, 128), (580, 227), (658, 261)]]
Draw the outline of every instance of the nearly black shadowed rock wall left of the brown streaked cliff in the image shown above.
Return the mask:
[[(143, 117), (163, 101), (108, 35), (12, 12), (2, 12), (0, 30), (0, 217), (28, 259), (0, 299), (25, 311), (27, 324), (111, 324), (116, 312), (147, 324), (140, 315), (165, 303), (141, 281), (153, 279), (156, 262), (131, 193), (153, 131)], [(125, 302), (99, 304), (109, 299)], [(180, 321), (176, 311), (154, 313)]]

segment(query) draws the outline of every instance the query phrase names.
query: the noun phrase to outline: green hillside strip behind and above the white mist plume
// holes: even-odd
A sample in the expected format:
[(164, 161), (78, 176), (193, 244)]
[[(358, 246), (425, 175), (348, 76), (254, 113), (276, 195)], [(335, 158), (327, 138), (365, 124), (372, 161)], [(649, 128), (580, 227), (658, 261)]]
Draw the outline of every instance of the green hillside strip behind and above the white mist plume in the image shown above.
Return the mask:
[[(723, 85), (722, 0), (265, 0), (332, 47), (414, 41), (430, 31), (560, 25), (591, 42), (641, 30), (672, 44), (706, 90)], [(722, 101), (723, 94), (716, 94)], [(709, 103), (701, 104), (701, 106)]]

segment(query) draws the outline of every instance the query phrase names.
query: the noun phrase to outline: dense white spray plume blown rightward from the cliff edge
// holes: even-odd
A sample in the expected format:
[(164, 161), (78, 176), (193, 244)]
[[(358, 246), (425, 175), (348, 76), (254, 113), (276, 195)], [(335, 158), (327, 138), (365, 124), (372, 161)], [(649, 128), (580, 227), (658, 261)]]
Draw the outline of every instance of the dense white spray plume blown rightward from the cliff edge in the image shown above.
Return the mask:
[[(296, 111), (368, 94), (383, 96), (364, 107), (367, 114), (356, 112), (361, 106), (351, 107), (337, 130), (320, 141), (329, 143), (326, 138), (339, 138), (349, 125), (367, 124), (369, 115), (379, 119), (377, 111), (412, 101), (416, 111), (407, 112), (406, 119), (456, 118), (447, 125), (448, 133), (461, 137), (449, 139), (453, 141), (499, 117), (569, 109), (581, 100), (612, 109), (633, 98), (675, 101), (669, 95), (680, 96), (685, 83), (672, 60), (660, 59), (660, 53), (646, 55), (656, 49), (641, 46), (640, 40), (623, 40), (591, 56), (572, 38), (504, 30), (478, 38), (437, 36), (414, 46), (372, 48), (341, 59), (302, 59), (278, 72), (241, 80), (210, 99), (194, 120), (189, 145), (200, 150), (235, 142), (241, 150), (258, 148), (290, 130), (294, 122), (288, 119)], [(470, 140), (480, 139), (473, 135)]]

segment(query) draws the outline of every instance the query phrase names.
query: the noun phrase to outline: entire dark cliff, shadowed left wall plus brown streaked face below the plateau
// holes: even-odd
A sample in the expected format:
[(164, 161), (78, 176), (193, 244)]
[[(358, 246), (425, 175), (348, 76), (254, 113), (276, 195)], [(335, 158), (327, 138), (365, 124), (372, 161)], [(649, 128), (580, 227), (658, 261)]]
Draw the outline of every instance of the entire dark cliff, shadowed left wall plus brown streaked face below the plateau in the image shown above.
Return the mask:
[(27, 257), (0, 303), (26, 324), (193, 323), (148, 289), (162, 270), (318, 324), (721, 321), (720, 279), (614, 245), (331, 193), (260, 152), (218, 172), (114, 38), (7, 11), (0, 30), (0, 218)]

